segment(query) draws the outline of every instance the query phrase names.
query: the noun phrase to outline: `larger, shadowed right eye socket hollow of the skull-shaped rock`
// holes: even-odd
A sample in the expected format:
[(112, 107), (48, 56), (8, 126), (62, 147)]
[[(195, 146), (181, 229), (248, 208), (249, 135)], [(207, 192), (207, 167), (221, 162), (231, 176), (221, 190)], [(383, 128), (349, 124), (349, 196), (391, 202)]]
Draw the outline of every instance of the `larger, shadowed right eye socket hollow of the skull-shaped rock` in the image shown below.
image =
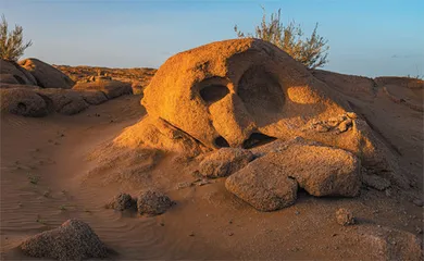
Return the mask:
[(264, 66), (247, 70), (238, 82), (237, 94), (258, 122), (263, 122), (269, 113), (282, 112), (285, 102), (282, 86)]

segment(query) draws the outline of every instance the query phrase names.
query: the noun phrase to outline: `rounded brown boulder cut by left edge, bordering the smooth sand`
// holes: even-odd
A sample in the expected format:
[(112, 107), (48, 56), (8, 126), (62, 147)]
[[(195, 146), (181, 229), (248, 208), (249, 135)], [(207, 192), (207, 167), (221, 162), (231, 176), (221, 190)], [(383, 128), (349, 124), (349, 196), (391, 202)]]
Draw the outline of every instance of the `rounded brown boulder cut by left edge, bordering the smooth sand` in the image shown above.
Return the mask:
[(1, 112), (35, 117), (48, 114), (46, 101), (33, 89), (1, 88), (0, 100)]

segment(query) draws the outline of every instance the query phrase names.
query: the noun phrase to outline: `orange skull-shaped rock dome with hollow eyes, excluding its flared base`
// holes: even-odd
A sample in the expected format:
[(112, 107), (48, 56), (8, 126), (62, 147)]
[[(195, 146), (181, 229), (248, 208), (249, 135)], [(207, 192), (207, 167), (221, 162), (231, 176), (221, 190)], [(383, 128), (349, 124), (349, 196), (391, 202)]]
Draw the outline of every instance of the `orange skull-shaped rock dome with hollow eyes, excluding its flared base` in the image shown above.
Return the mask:
[(325, 88), (275, 46), (237, 39), (169, 59), (142, 104), (207, 147), (249, 147), (249, 138), (299, 136), (311, 120), (344, 114)]

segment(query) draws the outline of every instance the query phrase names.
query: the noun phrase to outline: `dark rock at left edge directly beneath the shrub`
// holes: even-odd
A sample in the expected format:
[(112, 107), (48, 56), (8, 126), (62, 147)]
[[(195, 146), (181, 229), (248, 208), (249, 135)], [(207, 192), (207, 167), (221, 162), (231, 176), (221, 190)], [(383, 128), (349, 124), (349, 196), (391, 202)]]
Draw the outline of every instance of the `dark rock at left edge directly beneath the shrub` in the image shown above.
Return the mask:
[[(2, 59), (0, 59), (0, 83), (37, 85), (37, 80), (28, 71), (14, 62), (9, 62)], [(11, 77), (13, 77), (14, 80)]]

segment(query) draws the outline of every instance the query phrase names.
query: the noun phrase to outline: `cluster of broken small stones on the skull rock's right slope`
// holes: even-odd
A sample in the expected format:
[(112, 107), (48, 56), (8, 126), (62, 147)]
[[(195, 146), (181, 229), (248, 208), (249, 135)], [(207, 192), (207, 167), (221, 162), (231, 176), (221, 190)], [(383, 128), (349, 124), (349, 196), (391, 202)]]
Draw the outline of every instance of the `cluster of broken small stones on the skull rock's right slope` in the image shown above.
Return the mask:
[(347, 132), (352, 125), (357, 114), (348, 112), (337, 117), (331, 117), (327, 121), (313, 120), (307, 129), (313, 129), (317, 133), (335, 132), (336, 134)]

